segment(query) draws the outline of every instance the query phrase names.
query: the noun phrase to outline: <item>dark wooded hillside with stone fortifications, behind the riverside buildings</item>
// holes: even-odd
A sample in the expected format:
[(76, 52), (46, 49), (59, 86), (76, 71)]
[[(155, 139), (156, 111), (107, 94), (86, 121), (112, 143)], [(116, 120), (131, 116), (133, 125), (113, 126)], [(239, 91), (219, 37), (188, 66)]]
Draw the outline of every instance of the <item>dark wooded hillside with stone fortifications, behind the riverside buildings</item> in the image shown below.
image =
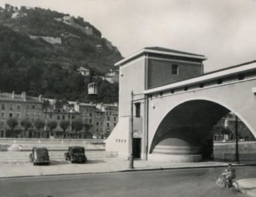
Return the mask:
[[(121, 58), (100, 30), (81, 17), (42, 8), (0, 8), (1, 91), (87, 101), (91, 99), (86, 96), (89, 77), (77, 73), (77, 68), (104, 75)], [(115, 102), (117, 84), (95, 80), (113, 95), (102, 93), (93, 100), (106, 102), (107, 97)]]

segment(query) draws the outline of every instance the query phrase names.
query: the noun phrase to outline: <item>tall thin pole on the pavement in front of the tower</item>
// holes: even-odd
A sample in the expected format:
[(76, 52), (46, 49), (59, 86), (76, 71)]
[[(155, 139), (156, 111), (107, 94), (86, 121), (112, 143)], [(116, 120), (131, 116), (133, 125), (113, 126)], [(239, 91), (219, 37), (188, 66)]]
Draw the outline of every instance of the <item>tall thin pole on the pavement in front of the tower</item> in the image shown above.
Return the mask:
[(134, 138), (134, 92), (131, 91), (131, 130), (129, 133), (129, 169), (134, 169), (133, 138)]

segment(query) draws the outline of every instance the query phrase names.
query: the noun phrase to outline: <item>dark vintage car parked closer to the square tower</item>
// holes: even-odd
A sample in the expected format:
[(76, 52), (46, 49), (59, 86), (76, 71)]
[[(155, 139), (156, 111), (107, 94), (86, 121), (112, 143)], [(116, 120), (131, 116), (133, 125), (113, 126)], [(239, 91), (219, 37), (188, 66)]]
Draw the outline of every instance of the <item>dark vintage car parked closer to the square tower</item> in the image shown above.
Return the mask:
[(73, 146), (68, 147), (68, 151), (64, 153), (65, 159), (73, 162), (86, 162), (87, 158), (84, 154), (84, 147)]

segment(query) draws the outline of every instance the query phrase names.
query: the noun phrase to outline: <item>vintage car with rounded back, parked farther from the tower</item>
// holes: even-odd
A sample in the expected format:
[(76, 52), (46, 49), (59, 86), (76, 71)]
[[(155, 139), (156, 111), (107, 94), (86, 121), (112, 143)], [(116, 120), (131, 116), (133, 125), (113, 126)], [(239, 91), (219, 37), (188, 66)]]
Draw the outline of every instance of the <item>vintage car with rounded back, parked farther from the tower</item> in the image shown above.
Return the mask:
[(50, 157), (48, 154), (48, 149), (46, 149), (46, 147), (34, 147), (32, 149), (32, 153), (29, 155), (29, 160), (30, 162), (33, 162), (34, 165), (49, 165)]

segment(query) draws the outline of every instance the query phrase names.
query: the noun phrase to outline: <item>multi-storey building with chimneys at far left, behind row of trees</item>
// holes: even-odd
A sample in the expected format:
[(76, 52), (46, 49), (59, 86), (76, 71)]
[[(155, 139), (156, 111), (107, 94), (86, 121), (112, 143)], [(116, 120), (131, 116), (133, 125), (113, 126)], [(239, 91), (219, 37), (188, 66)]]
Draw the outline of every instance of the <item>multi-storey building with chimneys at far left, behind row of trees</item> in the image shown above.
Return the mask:
[[(23, 130), (20, 126), (21, 120), (27, 119), (30, 122), (34, 122), (35, 119), (41, 119), (43, 117), (43, 102), (42, 96), (30, 97), (23, 92), (19, 95), (12, 93), (0, 93), (0, 137), (6, 138), (10, 136), (7, 133), (10, 128), (7, 124), (9, 118), (17, 118), (19, 125), (17, 129)], [(33, 131), (21, 133), (23, 138), (32, 138)]]

